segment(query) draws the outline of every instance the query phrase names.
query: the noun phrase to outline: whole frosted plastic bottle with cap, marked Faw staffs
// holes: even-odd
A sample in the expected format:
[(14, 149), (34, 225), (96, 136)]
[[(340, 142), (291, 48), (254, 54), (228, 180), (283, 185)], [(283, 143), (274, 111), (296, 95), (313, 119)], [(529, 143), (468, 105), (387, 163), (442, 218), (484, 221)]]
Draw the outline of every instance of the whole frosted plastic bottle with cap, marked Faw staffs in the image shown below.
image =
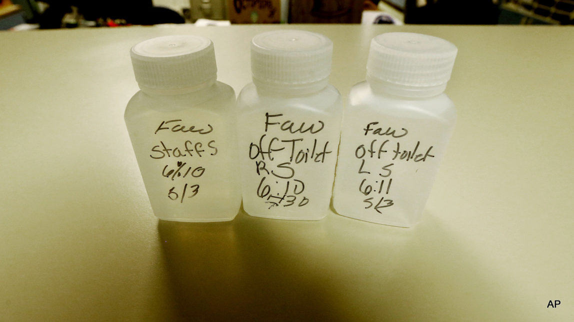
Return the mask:
[(165, 36), (131, 49), (141, 91), (125, 121), (154, 214), (229, 221), (241, 205), (235, 93), (216, 81), (208, 38)]

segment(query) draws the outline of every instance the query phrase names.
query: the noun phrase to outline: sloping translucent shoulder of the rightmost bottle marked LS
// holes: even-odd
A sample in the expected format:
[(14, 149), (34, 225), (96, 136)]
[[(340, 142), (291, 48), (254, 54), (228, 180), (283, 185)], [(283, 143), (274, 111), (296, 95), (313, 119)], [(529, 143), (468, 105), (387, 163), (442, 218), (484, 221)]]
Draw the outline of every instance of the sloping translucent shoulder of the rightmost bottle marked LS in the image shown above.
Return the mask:
[(348, 95), (346, 113), (385, 114), (397, 117), (428, 117), (448, 123), (456, 120), (456, 108), (447, 94), (409, 98), (374, 92), (369, 83), (354, 85)]

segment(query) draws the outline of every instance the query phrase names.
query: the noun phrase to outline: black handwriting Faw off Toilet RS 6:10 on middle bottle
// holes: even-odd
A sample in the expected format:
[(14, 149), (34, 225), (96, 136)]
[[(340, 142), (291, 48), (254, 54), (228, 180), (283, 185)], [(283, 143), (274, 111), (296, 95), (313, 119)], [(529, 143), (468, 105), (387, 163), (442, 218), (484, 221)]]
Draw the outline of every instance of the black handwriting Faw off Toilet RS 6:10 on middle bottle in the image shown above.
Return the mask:
[[(269, 209), (304, 207), (312, 201), (302, 177), (305, 164), (334, 158), (332, 144), (317, 138), (325, 128), (321, 120), (297, 123), (284, 113), (265, 113), (264, 131), (249, 144), (249, 159), (257, 173), (257, 194)], [(336, 147), (335, 147), (336, 148)]]

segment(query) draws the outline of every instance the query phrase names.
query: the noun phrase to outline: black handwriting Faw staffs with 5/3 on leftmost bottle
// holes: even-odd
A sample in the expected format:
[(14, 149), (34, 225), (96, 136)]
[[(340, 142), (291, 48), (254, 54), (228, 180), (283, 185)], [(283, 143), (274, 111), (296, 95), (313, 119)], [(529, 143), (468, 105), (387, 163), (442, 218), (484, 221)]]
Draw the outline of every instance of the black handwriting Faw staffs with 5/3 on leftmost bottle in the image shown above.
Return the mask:
[(161, 172), (157, 175), (172, 182), (165, 191), (166, 198), (184, 203), (200, 193), (199, 178), (208, 172), (201, 160), (218, 153), (215, 140), (209, 139), (213, 131), (210, 124), (198, 127), (181, 119), (164, 120), (158, 125), (154, 135), (166, 138), (173, 133), (181, 137), (179, 140), (162, 139), (150, 149), (149, 157), (161, 162)]

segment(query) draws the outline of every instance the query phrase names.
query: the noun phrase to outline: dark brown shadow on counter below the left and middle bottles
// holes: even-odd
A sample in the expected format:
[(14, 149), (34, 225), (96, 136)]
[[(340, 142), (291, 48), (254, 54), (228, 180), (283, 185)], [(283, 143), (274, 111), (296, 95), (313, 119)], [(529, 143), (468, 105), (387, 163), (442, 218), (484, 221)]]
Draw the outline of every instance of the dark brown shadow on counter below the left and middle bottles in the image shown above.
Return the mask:
[[(344, 320), (325, 293), (324, 277), (297, 262), (298, 250), (280, 245), (268, 229), (320, 222), (254, 218), (158, 222), (169, 288), (181, 320)], [(309, 230), (309, 229), (307, 229)], [(303, 266), (301, 266), (303, 265)]]

